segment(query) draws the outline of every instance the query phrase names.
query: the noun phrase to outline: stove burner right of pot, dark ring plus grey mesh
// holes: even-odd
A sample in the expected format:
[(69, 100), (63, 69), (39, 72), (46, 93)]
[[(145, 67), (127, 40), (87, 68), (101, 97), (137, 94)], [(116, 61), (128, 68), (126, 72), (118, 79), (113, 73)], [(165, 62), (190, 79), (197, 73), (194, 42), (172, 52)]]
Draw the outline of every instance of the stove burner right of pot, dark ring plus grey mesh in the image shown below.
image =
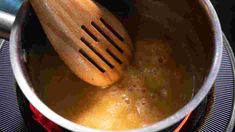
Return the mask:
[(223, 44), (221, 68), (214, 88), (191, 114), (182, 131), (233, 131), (235, 123), (235, 60), (225, 36)]

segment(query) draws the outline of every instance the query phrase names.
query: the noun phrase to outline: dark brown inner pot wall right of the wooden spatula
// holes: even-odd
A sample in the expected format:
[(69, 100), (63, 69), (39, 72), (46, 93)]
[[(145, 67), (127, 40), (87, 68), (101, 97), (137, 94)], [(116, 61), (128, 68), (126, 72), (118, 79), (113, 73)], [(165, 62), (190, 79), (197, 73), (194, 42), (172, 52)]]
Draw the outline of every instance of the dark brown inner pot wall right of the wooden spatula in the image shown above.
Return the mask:
[(213, 61), (214, 32), (199, 0), (96, 1), (118, 16), (133, 44), (142, 39), (167, 41), (177, 62), (195, 75), (195, 92), (200, 88)]

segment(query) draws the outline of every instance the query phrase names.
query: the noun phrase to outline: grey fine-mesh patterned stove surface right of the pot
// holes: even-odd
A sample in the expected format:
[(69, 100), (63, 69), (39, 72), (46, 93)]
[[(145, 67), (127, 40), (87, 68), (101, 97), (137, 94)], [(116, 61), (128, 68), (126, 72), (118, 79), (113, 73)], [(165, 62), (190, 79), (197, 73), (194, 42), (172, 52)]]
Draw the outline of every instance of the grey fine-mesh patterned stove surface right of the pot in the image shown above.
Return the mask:
[(221, 68), (215, 82), (214, 94), (208, 105), (199, 131), (231, 132), (235, 123), (235, 59), (233, 51), (224, 36), (224, 50)]

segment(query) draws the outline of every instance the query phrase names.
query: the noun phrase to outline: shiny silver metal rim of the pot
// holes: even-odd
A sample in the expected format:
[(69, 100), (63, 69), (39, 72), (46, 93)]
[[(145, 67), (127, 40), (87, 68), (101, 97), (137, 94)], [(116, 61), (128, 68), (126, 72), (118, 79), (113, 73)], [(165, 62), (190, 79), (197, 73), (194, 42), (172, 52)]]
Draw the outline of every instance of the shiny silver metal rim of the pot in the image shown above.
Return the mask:
[[(209, 74), (205, 78), (204, 83), (201, 86), (201, 89), (196, 93), (196, 95), (180, 110), (178, 110), (173, 115), (168, 118), (163, 119), (157, 123), (146, 126), (144, 128), (132, 129), (132, 130), (123, 130), (123, 132), (150, 132), (150, 131), (160, 131), (173, 124), (177, 123), (179, 120), (183, 119), (189, 112), (193, 111), (200, 102), (206, 97), (209, 93), (216, 76), (219, 72), (220, 63), (222, 60), (223, 44), (222, 44), (222, 30), (219, 23), (218, 16), (209, 0), (199, 0), (201, 6), (206, 11), (209, 21), (214, 30), (214, 54), (213, 54), (213, 64), (210, 67)], [(79, 124), (76, 124), (64, 117), (58, 115), (53, 110), (51, 110), (46, 104), (44, 104), (40, 98), (34, 92), (33, 86), (30, 83), (30, 79), (27, 76), (26, 68), (23, 64), (22, 52), (21, 52), (21, 32), (22, 32), (22, 23), (23, 18), (26, 17), (27, 9), (29, 8), (29, 2), (26, 1), (22, 5), (17, 17), (14, 22), (11, 35), (10, 35), (10, 59), (11, 65), (13, 68), (13, 73), (15, 75), (16, 81), (20, 86), (20, 89), (30, 101), (30, 103), (39, 110), (45, 117), (55, 122), (56, 124), (71, 130), (71, 131), (86, 131), (86, 132), (100, 132), (107, 130), (98, 130), (93, 128), (88, 128)], [(108, 131), (107, 131), (108, 132)], [(113, 132), (113, 131), (112, 131)], [(120, 132), (120, 131), (118, 131)]]

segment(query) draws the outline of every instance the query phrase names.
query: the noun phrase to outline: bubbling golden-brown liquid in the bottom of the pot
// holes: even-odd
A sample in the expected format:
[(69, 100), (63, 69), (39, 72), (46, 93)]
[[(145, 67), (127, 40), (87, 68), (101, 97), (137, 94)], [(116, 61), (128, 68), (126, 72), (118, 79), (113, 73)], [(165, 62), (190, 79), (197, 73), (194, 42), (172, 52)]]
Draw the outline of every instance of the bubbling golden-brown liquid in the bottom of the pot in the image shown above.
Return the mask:
[(59, 115), (91, 128), (144, 127), (173, 114), (192, 96), (192, 75), (176, 64), (164, 41), (137, 42), (123, 79), (107, 89), (79, 80), (57, 56), (36, 58), (29, 55), (29, 68), (40, 98)]

